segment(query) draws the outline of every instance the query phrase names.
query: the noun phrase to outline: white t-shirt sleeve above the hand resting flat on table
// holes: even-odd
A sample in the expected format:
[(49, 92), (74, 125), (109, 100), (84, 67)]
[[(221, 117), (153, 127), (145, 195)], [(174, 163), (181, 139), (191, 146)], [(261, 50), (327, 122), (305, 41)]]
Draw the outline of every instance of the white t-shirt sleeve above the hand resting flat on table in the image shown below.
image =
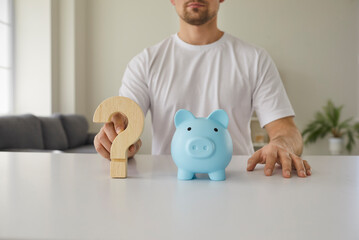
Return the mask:
[(277, 119), (295, 115), (277, 67), (264, 50), (259, 52), (257, 82), (252, 96), (262, 128)]

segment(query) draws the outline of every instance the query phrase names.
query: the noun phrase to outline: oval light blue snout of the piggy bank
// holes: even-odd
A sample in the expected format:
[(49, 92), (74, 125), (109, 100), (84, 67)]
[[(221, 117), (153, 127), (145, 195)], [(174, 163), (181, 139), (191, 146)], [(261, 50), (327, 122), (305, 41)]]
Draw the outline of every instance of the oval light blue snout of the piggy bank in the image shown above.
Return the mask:
[(186, 148), (191, 157), (207, 158), (213, 154), (215, 144), (208, 138), (198, 137), (189, 139)]

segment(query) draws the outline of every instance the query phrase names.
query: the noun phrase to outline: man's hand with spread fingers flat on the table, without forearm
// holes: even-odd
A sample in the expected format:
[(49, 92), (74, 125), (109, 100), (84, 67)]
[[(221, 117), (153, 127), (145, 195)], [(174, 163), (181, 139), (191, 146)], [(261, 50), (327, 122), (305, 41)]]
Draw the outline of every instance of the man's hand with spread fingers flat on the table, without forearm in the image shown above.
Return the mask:
[(253, 171), (258, 163), (265, 164), (264, 173), (266, 176), (272, 175), (276, 163), (282, 167), (282, 175), (285, 178), (290, 177), (292, 169), (297, 170), (299, 177), (306, 177), (312, 174), (311, 167), (306, 160), (302, 160), (294, 153), (275, 143), (269, 143), (256, 151), (248, 159), (247, 171)]

